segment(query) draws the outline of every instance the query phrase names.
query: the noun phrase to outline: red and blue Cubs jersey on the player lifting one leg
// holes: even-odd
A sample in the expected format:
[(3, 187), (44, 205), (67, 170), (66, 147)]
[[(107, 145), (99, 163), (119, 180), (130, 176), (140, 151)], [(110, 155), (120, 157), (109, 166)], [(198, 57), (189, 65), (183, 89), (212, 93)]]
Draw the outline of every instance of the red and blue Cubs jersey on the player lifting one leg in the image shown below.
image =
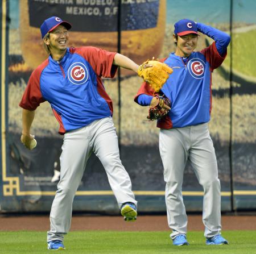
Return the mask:
[(112, 99), (101, 77), (114, 77), (114, 56), (114, 52), (94, 47), (70, 47), (60, 62), (49, 56), (32, 72), (19, 106), (35, 110), (48, 101), (60, 134), (112, 116)]

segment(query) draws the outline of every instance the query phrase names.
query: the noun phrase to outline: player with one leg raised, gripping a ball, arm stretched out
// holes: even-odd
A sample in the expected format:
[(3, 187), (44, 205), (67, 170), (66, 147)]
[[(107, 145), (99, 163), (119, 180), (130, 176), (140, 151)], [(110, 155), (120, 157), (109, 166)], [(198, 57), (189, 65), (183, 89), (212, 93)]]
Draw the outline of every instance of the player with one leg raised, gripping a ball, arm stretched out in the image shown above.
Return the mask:
[(68, 47), (71, 24), (57, 16), (44, 20), (41, 34), (47, 60), (32, 72), (19, 103), (22, 110), (21, 141), (34, 149), (30, 128), (35, 110), (44, 101), (64, 135), (60, 156), (60, 181), (52, 203), (48, 249), (64, 249), (64, 235), (71, 226), (72, 203), (86, 161), (96, 153), (108, 175), (109, 184), (126, 221), (137, 218), (137, 201), (123, 167), (112, 120), (113, 103), (101, 77), (113, 78), (118, 66), (137, 72), (138, 65), (119, 53), (94, 47)]

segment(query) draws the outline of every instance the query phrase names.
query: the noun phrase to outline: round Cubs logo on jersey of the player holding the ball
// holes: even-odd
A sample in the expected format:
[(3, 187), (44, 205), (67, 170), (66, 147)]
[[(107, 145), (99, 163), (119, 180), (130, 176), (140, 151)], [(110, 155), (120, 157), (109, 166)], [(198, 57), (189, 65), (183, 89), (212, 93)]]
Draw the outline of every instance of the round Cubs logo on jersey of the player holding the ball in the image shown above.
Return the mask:
[(68, 68), (68, 79), (75, 85), (82, 85), (88, 80), (88, 70), (82, 63), (73, 63)]

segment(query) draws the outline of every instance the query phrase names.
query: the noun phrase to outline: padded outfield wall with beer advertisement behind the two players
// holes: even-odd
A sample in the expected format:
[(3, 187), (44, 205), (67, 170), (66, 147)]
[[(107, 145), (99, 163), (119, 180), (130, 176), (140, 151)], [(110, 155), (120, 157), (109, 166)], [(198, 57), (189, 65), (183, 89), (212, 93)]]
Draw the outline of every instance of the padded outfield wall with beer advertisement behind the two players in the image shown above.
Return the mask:
[[(255, 209), (255, 68), (251, 51), (256, 20), (254, 1), (195, 0), (40, 1), (1, 3), (1, 211), (49, 211), (60, 178), (63, 136), (48, 102), (40, 104), (32, 125), (38, 141), (30, 151), (20, 143), (20, 99), (33, 70), (47, 59), (40, 24), (49, 16), (72, 23), (70, 45), (93, 46), (118, 52), (137, 64), (164, 59), (175, 51), (174, 24), (188, 18), (232, 36), (224, 63), (212, 73), (212, 111), (209, 122), (221, 182), (222, 211)], [(184, 16), (184, 8), (189, 14)], [(213, 15), (214, 13), (214, 15)], [(251, 14), (251, 15), (248, 15)], [(121, 31), (118, 31), (118, 15)], [(231, 19), (230, 15), (233, 15)], [(10, 20), (10, 22), (7, 22)], [(230, 23), (232, 20), (232, 23)], [(118, 41), (120, 39), (120, 41)], [(213, 43), (200, 34), (196, 51)], [(121, 81), (118, 84), (119, 81)], [(148, 121), (148, 107), (134, 97), (142, 79), (131, 71), (104, 79), (113, 101), (113, 121), (119, 134), (122, 164), (129, 173), (139, 211), (166, 212), (159, 128)], [(187, 211), (201, 211), (203, 188), (188, 162), (183, 198)], [(74, 211), (118, 214), (108, 176), (94, 153), (90, 156), (73, 203)]]

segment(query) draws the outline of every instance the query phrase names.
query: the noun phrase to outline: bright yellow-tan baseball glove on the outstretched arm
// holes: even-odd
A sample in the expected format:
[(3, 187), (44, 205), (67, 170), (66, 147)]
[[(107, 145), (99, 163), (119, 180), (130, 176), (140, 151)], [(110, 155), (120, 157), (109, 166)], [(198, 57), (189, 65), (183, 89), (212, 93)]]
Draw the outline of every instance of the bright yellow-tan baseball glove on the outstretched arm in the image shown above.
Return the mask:
[(167, 64), (154, 60), (154, 58), (139, 65), (138, 69), (138, 75), (148, 82), (156, 92), (162, 88), (172, 72), (172, 68)]

